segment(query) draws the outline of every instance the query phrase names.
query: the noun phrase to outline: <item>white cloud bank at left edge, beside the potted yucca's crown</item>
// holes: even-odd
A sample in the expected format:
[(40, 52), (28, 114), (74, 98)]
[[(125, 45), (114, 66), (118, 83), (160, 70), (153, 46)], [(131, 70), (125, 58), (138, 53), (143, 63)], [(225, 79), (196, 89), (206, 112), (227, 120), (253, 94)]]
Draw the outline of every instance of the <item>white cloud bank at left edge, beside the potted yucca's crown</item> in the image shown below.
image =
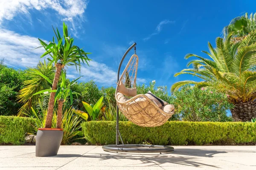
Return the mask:
[(43, 48), (34, 49), (40, 45), (35, 37), (0, 29), (1, 58), (4, 58), (6, 64), (19, 68), (35, 66), (44, 53)]

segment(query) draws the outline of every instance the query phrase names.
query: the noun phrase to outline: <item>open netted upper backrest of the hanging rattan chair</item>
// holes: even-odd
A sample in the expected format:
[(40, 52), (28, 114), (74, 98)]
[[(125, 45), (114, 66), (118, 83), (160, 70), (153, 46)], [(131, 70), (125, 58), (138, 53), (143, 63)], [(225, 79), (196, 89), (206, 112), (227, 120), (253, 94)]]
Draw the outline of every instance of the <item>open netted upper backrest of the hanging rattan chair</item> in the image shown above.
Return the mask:
[(119, 82), (116, 86), (116, 93), (118, 92), (118, 86), (122, 82), (127, 88), (136, 88), (136, 78), (138, 69), (139, 57), (137, 54), (133, 54), (122, 72)]

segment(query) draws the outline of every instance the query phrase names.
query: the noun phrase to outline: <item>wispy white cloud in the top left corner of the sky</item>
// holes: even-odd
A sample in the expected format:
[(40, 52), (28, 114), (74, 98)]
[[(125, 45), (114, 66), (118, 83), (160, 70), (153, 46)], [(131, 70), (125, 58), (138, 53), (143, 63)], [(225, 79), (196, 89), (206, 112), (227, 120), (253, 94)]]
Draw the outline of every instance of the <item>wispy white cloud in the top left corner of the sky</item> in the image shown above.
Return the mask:
[[(30, 11), (52, 9), (62, 17), (62, 20), (69, 21), (76, 35), (76, 26), (81, 22), (84, 10), (87, 8), (86, 0), (1, 0), (0, 1), (0, 25), (3, 20), (13, 20), (15, 16), (25, 15), (29, 20)], [(77, 22), (79, 18), (79, 22)], [(38, 20), (39, 21), (39, 20)]]

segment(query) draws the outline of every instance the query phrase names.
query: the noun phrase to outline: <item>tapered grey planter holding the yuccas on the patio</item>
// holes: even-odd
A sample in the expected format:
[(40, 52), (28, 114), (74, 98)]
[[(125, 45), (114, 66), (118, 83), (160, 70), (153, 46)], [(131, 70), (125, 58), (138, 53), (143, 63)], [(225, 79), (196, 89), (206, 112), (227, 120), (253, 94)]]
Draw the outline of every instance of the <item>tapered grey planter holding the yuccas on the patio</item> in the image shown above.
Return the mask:
[(35, 156), (57, 155), (62, 137), (62, 129), (39, 128), (35, 140)]

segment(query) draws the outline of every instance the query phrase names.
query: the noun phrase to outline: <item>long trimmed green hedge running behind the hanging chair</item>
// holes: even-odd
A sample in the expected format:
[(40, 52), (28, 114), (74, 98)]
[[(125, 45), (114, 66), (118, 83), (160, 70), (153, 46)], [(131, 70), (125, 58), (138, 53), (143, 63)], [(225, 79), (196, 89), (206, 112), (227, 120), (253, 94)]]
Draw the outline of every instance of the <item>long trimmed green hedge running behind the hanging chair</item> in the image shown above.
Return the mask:
[[(91, 144), (115, 144), (116, 122), (91, 121), (81, 124)], [(246, 144), (256, 142), (256, 123), (247, 122), (166, 122), (160, 127), (140, 127), (119, 122), (125, 144)]]

